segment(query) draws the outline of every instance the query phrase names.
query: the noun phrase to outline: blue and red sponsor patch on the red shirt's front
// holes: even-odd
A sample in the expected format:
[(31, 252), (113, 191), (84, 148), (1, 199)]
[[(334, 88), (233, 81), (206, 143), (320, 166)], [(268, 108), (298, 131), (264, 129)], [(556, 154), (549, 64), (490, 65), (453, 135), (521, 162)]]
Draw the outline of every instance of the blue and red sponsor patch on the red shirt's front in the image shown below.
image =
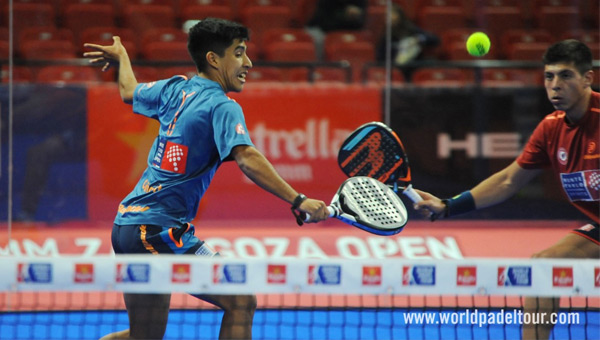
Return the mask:
[(560, 174), (560, 180), (571, 201), (600, 200), (600, 170)]

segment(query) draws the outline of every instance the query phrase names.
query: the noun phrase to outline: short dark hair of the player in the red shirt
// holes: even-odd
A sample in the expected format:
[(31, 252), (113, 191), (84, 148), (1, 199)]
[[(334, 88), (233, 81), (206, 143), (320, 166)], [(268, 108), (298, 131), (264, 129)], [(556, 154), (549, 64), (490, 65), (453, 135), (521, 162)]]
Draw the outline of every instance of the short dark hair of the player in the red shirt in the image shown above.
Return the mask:
[(574, 63), (580, 74), (592, 69), (592, 51), (581, 41), (567, 39), (548, 47), (542, 60), (544, 65)]

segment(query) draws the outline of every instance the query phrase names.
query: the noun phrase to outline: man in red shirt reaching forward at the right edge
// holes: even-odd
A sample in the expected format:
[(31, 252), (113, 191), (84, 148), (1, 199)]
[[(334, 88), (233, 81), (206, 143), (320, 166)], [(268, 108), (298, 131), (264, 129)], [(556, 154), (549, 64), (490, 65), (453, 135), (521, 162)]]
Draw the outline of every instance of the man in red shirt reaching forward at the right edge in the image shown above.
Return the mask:
[[(517, 159), (469, 191), (439, 199), (418, 191), (415, 209), (432, 220), (501, 203), (552, 168), (564, 193), (590, 223), (573, 230), (535, 258), (600, 258), (600, 93), (592, 91), (592, 53), (576, 40), (558, 42), (544, 56), (544, 86), (556, 109), (542, 120)], [(558, 310), (557, 298), (525, 299), (525, 313)], [(552, 324), (523, 325), (523, 339), (548, 339)]]

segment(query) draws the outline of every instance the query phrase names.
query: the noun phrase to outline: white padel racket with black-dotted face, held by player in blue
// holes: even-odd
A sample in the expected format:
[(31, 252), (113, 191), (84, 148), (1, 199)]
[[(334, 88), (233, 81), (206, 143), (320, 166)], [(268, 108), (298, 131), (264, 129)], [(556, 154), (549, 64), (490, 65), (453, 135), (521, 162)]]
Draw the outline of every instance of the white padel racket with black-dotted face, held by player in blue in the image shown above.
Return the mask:
[[(406, 207), (398, 195), (387, 185), (365, 176), (344, 181), (327, 209), (329, 217), (376, 235), (397, 234), (408, 221)], [(310, 215), (303, 215), (303, 220), (308, 221)]]

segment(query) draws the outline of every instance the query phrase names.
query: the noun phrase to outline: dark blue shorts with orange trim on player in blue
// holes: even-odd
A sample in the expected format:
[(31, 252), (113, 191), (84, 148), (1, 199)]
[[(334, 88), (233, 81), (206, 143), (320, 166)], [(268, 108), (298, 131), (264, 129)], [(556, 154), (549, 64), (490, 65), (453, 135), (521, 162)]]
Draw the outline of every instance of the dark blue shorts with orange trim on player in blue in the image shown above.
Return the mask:
[(216, 255), (194, 231), (190, 223), (179, 227), (114, 224), (111, 241), (116, 254)]

